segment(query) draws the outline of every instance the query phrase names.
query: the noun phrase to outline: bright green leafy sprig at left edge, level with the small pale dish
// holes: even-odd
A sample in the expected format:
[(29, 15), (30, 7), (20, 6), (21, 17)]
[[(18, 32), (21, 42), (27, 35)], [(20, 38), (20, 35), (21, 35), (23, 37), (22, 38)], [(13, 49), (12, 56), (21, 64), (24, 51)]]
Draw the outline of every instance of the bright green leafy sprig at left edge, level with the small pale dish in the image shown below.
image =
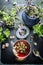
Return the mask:
[(9, 36), (10, 36), (10, 30), (5, 29), (3, 31), (3, 28), (0, 27), (0, 42), (4, 42), (6, 40), (6, 38), (8, 38)]

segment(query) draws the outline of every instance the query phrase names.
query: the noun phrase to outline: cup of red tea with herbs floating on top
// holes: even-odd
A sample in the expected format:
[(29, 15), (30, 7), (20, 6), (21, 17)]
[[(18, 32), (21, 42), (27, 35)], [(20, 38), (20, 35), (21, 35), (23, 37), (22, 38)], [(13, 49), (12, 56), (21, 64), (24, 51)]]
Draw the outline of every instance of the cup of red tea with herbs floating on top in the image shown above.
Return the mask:
[(30, 49), (30, 44), (26, 40), (18, 40), (13, 45), (13, 54), (21, 61), (30, 55)]

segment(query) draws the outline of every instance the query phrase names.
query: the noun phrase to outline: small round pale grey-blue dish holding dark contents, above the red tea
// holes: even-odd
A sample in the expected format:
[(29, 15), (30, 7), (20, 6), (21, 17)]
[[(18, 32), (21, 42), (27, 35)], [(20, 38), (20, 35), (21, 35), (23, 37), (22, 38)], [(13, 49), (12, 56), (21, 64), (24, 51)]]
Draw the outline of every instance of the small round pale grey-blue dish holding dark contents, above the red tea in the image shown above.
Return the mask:
[(23, 39), (26, 38), (29, 35), (29, 29), (26, 26), (22, 26), (18, 28), (16, 32), (17, 38)]

